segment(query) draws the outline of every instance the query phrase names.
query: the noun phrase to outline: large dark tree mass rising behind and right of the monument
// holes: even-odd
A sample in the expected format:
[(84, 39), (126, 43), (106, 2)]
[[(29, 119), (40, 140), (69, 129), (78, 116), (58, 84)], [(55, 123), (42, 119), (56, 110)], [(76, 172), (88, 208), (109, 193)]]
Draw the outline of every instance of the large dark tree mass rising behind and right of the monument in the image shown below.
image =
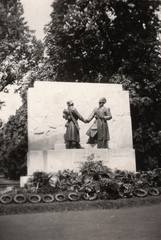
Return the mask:
[(121, 83), (130, 91), (139, 167), (161, 166), (159, 7), (159, 0), (57, 0), (46, 26), (57, 81)]

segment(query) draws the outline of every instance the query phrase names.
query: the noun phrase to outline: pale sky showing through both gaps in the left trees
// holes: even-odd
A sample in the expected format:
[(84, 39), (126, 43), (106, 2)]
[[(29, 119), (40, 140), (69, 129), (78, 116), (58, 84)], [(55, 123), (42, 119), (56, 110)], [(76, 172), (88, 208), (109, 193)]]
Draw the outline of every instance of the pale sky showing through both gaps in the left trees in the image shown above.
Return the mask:
[[(28, 22), (30, 30), (36, 30), (37, 39), (43, 40), (44, 25), (50, 22), (52, 12), (51, 4), (54, 0), (20, 0), (24, 8), (25, 21)], [(10, 115), (14, 115), (16, 109), (22, 105), (19, 94), (14, 94), (16, 87), (10, 86), (9, 93), (0, 93), (0, 100), (5, 101), (5, 105), (0, 109), (0, 119), (3, 122), (8, 120)]]

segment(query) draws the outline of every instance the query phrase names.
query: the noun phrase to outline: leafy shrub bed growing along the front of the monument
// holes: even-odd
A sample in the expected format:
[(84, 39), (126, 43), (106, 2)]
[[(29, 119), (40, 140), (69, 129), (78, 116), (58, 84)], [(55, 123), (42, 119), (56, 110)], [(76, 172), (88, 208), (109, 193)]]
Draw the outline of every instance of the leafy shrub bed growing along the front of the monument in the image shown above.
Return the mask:
[(43, 194), (74, 192), (85, 200), (95, 200), (95, 196), (100, 199), (129, 198), (133, 196), (133, 190), (160, 187), (161, 169), (137, 173), (112, 171), (101, 161), (86, 161), (79, 172), (69, 169), (59, 171), (55, 176), (54, 186), (51, 179), (50, 173), (35, 172), (28, 180), (25, 192)]

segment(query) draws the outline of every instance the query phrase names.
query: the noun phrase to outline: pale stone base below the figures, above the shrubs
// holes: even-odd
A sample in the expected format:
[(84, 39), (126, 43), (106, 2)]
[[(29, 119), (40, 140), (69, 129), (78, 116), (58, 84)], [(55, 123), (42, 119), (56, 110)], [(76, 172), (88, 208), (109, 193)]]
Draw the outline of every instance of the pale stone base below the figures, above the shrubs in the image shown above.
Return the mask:
[(111, 169), (128, 171), (135, 171), (136, 169), (135, 152), (130, 148), (44, 150), (39, 151), (39, 161), (35, 158), (37, 153), (37, 151), (28, 153), (28, 175), (32, 175), (35, 171), (45, 171), (47, 173), (56, 173), (64, 169), (79, 171), (81, 164), (89, 158), (92, 161), (102, 161), (104, 165)]

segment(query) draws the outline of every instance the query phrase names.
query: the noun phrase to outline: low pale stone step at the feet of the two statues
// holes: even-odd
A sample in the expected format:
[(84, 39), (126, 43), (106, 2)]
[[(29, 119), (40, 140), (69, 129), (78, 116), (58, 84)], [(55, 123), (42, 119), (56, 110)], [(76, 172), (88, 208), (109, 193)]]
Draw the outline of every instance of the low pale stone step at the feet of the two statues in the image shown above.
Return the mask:
[[(117, 148), (117, 144), (116, 143), (109, 143), (109, 148)], [(87, 143), (81, 143), (81, 146), (84, 148), (84, 149), (97, 149), (97, 144), (87, 144)], [(66, 145), (65, 143), (57, 143), (54, 145), (54, 150), (65, 150), (67, 149), (66, 148)]]

